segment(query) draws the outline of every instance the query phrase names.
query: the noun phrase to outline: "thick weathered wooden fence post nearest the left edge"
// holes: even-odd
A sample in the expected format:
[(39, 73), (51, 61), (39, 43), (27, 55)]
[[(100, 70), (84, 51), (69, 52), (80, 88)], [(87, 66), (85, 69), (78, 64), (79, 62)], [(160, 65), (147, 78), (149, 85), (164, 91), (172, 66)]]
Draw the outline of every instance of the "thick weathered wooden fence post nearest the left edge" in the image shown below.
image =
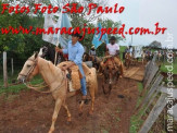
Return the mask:
[(7, 71), (7, 52), (3, 51), (3, 84), (8, 87), (8, 71)]

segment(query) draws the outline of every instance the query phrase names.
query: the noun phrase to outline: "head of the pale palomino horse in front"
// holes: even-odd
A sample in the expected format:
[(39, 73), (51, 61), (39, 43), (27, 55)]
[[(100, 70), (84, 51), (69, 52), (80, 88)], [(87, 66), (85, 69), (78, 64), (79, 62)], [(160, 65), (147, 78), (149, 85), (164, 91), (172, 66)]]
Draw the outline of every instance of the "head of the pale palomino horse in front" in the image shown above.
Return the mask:
[(24, 83), (26, 81), (31, 80), (36, 74), (38, 74), (39, 70), (37, 63), (38, 52), (34, 53), (30, 58), (28, 58), (22, 71), (20, 72), (17, 80)]

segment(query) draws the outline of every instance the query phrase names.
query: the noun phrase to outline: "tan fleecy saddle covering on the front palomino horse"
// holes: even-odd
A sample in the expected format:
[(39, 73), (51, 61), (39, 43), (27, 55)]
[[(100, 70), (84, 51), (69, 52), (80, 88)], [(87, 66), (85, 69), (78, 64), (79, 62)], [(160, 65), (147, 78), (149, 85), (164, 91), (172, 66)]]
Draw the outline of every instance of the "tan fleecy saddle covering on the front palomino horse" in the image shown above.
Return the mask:
[[(58, 64), (56, 66), (62, 68), (63, 65), (66, 65), (68, 63), (69, 61), (64, 61)], [(90, 69), (86, 65), (86, 63), (83, 63), (83, 70), (86, 77), (91, 73)], [(80, 78), (83, 78), (83, 75), (79, 71), (79, 68), (77, 65), (73, 65), (69, 68), (68, 73), (71, 75), (71, 81), (68, 82), (69, 90), (73, 92), (80, 89), (81, 87)]]

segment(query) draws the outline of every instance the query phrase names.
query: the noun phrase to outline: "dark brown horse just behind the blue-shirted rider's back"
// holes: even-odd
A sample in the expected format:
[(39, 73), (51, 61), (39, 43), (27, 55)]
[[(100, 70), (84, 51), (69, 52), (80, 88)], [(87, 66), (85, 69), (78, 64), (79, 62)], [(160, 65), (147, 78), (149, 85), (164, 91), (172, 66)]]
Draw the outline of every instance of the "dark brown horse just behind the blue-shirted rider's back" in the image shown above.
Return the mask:
[(100, 62), (102, 61), (101, 58), (90, 56), (87, 52), (84, 53), (83, 60), (84, 61), (92, 61), (93, 68), (96, 68), (97, 70), (100, 68)]

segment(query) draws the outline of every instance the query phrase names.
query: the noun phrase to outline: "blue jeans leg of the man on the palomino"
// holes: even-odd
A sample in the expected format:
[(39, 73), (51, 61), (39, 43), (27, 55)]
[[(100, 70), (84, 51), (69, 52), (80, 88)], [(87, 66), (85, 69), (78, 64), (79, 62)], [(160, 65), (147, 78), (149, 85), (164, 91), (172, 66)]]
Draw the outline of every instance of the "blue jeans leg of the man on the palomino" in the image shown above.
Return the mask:
[(81, 84), (81, 93), (84, 96), (87, 95), (87, 87), (86, 87), (86, 76), (85, 76), (85, 72), (83, 70), (83, 64), (78, 64), (79, 71), (83, 75), (83, 78), (80, 80), (80, 84)]

